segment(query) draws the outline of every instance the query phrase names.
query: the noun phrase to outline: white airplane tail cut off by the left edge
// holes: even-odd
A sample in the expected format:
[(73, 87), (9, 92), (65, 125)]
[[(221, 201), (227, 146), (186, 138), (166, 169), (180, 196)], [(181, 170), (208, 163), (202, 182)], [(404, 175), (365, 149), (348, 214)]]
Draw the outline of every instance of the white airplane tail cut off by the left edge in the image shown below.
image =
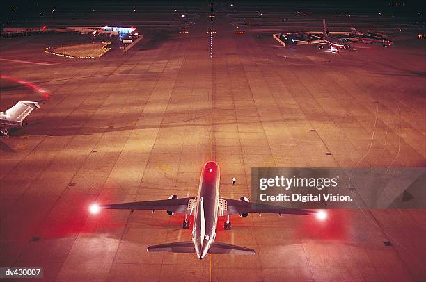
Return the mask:
[(26, 126), (24, 119), (36, 108), (40, 108), (41, 101), (19, 101), (6, 112), (0, 112), (0, 132), (9, 136), (8, 129)]

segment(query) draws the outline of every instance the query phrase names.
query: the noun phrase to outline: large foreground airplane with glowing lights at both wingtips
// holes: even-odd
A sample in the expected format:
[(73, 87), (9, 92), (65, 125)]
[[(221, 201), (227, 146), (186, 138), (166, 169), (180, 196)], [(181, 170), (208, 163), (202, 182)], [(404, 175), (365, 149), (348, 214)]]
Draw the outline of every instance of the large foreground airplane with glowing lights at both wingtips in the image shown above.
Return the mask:
[(200, 176), (200, 185), (197, 197), (178, 199), (177, 195), (171, 195), (166, 200), (139, 201), (122, 204), (92, 204), (90, 213), (96, 214), (100, 209), (117, 210), (166, 210), (168, 215), (184, 213), (182, 227), (189, 229), (189, 215), (194, 215), (192, 240), (187, 242), (173, 242), (149, 246), (147, 251), (166, 251), (171, 253), (193, 253), (200, 259), (207, 254), (255, 254), (254, 249), (240, 247), (232, 244), (214, 242), (216, 238), (217, 220), (220, 216), (226, 216), (224, 229), (231, 229), (230, 215), (239, 214), (242, 217), (248, 213), (278, 213), (290, 215), (314, 215), (318, 219), (325, 219), (324, 210), (303, 210), (297, 208), (281, 208), (265, 204), (254, 204), (246, 197), (239, 200), (219, 197), (220, 169), (219, 165), (210, 161), (205, 163)]

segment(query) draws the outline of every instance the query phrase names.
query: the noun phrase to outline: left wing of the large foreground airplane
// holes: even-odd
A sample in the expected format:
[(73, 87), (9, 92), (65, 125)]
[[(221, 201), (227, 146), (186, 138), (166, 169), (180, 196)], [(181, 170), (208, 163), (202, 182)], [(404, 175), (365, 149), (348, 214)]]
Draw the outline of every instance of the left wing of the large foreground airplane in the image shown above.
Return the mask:
[[(130, 203), (100, 205), (113, 210), (168, 210), (173, 213), (192, 213), (195, 198), (168, 199), (159, 201), (134, 201)], [(191, 201), (192, 200), (192, 201)]]

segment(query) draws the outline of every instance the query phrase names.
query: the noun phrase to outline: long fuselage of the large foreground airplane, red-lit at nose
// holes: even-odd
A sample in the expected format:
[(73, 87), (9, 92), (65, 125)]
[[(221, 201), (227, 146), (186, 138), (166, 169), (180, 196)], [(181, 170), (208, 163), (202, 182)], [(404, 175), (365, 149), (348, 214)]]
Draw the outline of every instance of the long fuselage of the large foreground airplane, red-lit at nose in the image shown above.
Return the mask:
[(219, 165), (208, 162), (201, 173), (198, 190), (192, 242), (198, 258), (205, 258), (210, 245), (216, 238), (217, 218), (219, 214)]

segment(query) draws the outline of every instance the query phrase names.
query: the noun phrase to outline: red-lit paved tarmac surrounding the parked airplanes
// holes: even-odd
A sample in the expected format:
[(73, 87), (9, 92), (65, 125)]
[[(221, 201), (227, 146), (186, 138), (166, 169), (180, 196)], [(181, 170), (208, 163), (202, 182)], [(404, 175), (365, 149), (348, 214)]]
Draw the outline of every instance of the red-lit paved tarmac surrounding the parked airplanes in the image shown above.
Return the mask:
[[(135, 24), (146, 30), (139, 44), (97, 59), (43, 52), (90, 40), (81, 35), (2, 39), (2, 76), (21, 83), (1, 79), (1, 110), (50, 99), (0, 138), (0, 266), (43, 267), (45, 281), (426, 281), (425, 210), (332, 210), (325, 222), (251, 214), (232, 217), (230, 231), (220, 219), (216, 242), (256, 255), (205, 260), (146, 252), (190, 240), (180, 215), (89, 215), (93, 202), (195, 196), (208, 160), (232, 199), (250, 197), (251, 167), (425, 167), (418, 26), (404, 21), (399, 32), (390, 18), (352, 17), (365, 29), (381, 22), (395, 44), (333, 54), (282, 47), (254, 24), (256, 11), (217, 9), (212, 22), (202, 6), (182, 26), (161, 30), (180, 18), (173, 10), (155, 32)], [(278, 29), (298, 28), (300, 17)], [(320, 31), (322, 17), (303, 19), (303, 29)]]

